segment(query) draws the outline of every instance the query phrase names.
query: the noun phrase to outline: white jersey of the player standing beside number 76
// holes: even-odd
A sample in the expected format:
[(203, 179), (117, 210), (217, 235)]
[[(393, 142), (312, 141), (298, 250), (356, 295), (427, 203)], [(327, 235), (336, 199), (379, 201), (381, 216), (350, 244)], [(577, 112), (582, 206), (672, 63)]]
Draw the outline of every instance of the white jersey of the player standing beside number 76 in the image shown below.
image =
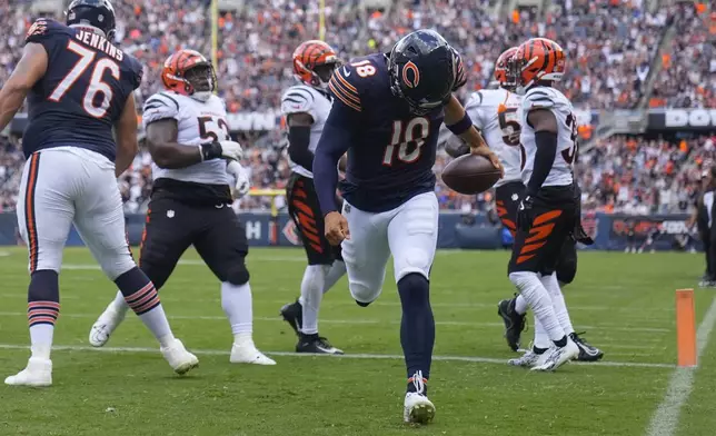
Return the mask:
[[(223, 101), (211, 96), (198, 101), (180, 93), (158, 92), (145, 102), (142, 122), (145, 128), (162, 119), (177, 120), (177, 142), (193, 147), (212, 141), (230, 139)], [(186, 168), (159, 168), (152, 162), (152, 178), (165, 178), (203, 185), (228, 185), (229, 176), (223, 159), (205, 160)]]

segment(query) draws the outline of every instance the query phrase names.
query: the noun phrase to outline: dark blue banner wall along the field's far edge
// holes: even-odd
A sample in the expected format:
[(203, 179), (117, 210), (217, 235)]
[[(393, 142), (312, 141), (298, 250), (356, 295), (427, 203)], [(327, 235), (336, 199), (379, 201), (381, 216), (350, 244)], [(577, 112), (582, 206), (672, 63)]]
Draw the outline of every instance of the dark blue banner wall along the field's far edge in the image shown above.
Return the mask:
[[(300, 237), (288, 214), (272, 218), (269, 212), (240, 214), (246, 227), (246, 237), (253, 247), (300, 246)], [(127, 235), (132, 246), (138, 246), (145, 226), (143, 215), (128, 215)], [(606, 215), (585, 214), (581, 217), (585, 230), (595, 240), (597, 250), (702, 250), (694, 228), (686, 224), (687, 215)], [(440, 214), (438, 248), (498, 249), (511, 245), (511, 235), (499, 225), (488, 221), (484, 215), (466, 216), (460, 212)], [(23, 245), (14, 214), (0, 214), (0, 246)], [(68, 246), (82, 246), (82, 239), (71, 229)]]

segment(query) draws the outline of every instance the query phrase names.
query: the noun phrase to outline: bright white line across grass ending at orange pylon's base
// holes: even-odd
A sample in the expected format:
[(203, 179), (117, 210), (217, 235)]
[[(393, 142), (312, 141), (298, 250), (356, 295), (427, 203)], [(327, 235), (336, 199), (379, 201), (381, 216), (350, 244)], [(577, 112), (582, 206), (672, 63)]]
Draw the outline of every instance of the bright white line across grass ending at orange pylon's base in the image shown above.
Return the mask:
[[(16, 344), (0, 344), (0, 349), (30, 349), (27, 345), (16, 345)], [(149, 347), (102, 347), (95, 348), (89, 346), (81, 345), (53, 345), (53, 351), (103, 351), (103, 353), (157, 353), (159, 354), (159, 347), (149, 348)], [(191, 353), (195, 353), (199, 356), (228, 356), (228, 349), (191, 349)], [(288, 356), (288, 357), (320, 357), (320, 358), (338, 358), (338, 359), (389, 359), (389, 360), (402, 360), (402, 355), (382, 355), (382, 354), (345, 354), (345, 355), (314, 355), (306, 353), (288, 353), (288, 351), (263, 351), (269, 356)], [(496, 364), (505, 365), (507, 359), (498, 359), (494, 357), (469, 357), (469, 356), (432, 356), (432, 360), (439, 361), (471, 361), (477, 364)], [(588, 364), (575, 363), (577, 365), (585, 366), (609, 366), (609, 367), (623, 367), (623, 368), (674, 368), (674, 365), (669, 364), (648, 364), (639, 361), (594, 361)]]

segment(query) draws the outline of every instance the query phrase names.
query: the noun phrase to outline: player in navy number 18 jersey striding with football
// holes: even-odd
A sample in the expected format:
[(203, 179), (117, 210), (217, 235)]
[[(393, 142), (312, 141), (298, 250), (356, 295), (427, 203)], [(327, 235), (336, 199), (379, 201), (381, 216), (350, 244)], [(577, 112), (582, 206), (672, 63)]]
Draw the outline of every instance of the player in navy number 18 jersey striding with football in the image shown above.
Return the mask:
[[(431, 30), (404, 37), (389, 54), (355, 59), (329, 82), (334, 105), (314, 159), (326, 237), (334, 245), (342, 242), (358, 305), (378, 298), (392, 254), (408, 376), (404, 419), (411, 423), (426, 424), (435, 416), (427, 397), (435, 343), (429, 274), (438, 235), (432, 165), (441, 123), (501, 169), (453, 96), (465, 81), (459, 54)], [(335, 201), (336, 166), (346, 151), (341, 215)]]

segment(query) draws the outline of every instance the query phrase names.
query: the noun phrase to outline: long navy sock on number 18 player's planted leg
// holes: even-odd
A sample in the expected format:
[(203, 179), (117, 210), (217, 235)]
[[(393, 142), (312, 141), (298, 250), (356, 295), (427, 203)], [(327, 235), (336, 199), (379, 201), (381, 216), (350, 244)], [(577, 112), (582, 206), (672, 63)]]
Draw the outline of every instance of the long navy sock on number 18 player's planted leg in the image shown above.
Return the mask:
[[(402, 305), (400, 345), (408, 369), (408, 379), (420, 373), (419, 377), (427, 380), (430, 377), (435, 345), (430, 285), (421, 274), (411, 272), (398, 281), (398, 294)], [(414, 383), (408, 383), (408, 392), (416, 389)]]

